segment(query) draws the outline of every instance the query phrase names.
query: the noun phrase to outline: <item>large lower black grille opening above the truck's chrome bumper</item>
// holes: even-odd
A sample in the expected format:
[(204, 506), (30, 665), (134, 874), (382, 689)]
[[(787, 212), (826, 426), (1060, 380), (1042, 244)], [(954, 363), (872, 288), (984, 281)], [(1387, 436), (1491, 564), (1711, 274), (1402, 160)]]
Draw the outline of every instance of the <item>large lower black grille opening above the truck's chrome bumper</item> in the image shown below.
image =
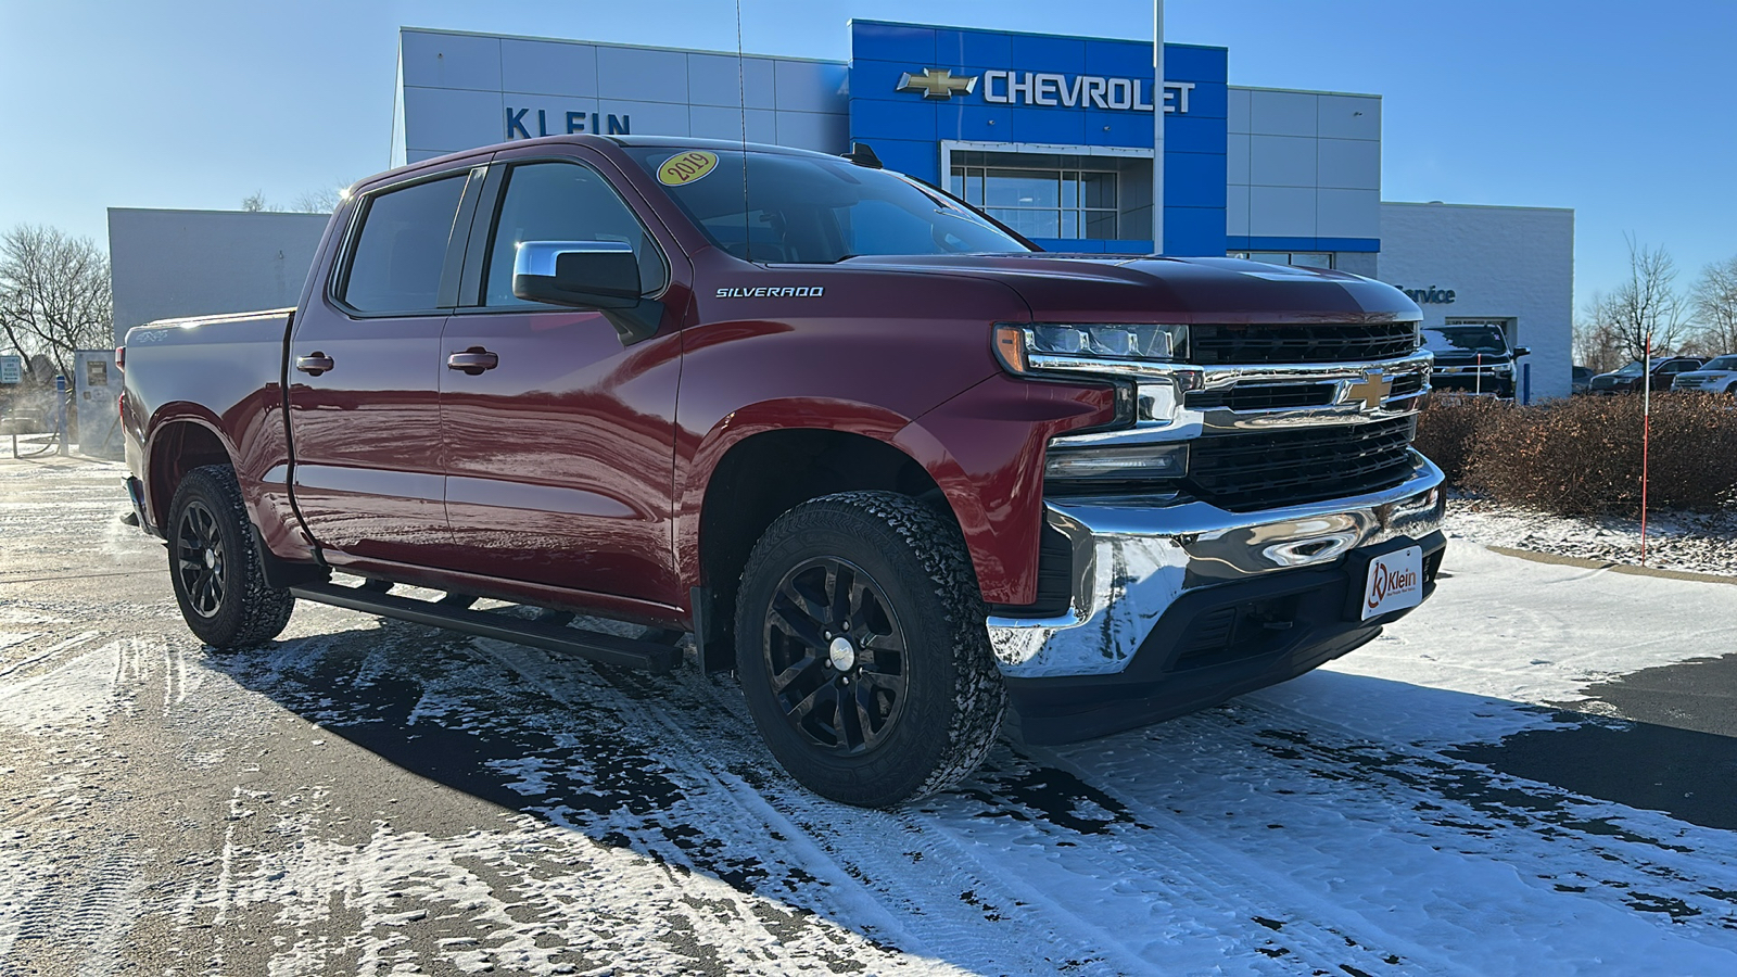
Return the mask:
[(1379, 492), (1405, 482), (1416, 419), (1207, 435), (1188, 449), (1188, 485), (1232, 513)]

